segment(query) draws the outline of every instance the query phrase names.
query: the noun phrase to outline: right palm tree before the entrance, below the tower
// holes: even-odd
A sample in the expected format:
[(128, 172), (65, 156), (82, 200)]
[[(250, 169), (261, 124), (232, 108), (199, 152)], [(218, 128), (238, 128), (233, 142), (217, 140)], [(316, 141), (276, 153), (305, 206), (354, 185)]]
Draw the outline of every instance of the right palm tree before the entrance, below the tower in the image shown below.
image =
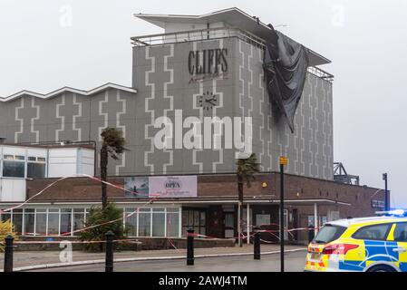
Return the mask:
[[(246, 181), (247, 188), (251, 187), (251, 181), (255, 180), (255, 174), (260, 171), (260, 163), (257, 163), (255, 153), (251, 153), (248, 158), (237, 160), (237, 191), (238, 191), (238, 245), (242, 247), (242, 206), (243, 206), (243, 186)], [(248, 233), (247, 233), (248, 236)], [(248, 237), (247, 237), (248, 238)]]

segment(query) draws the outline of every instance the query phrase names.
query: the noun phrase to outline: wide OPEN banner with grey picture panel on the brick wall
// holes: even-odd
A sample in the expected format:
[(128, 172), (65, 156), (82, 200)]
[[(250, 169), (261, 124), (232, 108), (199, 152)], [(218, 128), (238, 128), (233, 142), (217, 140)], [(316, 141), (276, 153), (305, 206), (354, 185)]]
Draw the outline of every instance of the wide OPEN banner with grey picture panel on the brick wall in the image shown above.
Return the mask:
[(124, 179), (125, 198), (196, 198), (197, 176), (132, 177)]

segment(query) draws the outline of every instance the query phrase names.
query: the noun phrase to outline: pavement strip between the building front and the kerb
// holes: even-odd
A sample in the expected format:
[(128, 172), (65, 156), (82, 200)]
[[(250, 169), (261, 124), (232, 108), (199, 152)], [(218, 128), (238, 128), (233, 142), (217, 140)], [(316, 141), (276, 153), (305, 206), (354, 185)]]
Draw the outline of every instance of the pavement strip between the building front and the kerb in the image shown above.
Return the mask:
[[(302, 246), (286, 246), (286, 252), (300, 251), (302, 259), (305, 259), (305, 247)], [(261, 253), (263, 255), (271, 255), (279, 253), (278, 245), (261, 245)], [(66, 266), (83, 266), (96, 265), (103, 266), (104, 253), (89, 253), (83, 251), (73, 251), (72, 260), (66, 261), (66, 252), (63, 251), (30, 251), (14, 253), (14, 268), (15, 271), (25, 271), (34, 269), (66, 267)], [(60, 255), (63, 259), (60, 258)], [(186, 249), (168, 249), (168, 250), (152, 250), (152, 251), (122, 251), (114, 253), (115, 262), (131, 263), (136, 261), (157, 261), (157, 260), (179, 260), (181, 264), (184, 262), (187, 255)], [(218, 256), (250, 256), (253, 259), (253, 245), (244, 245), (243, 247), (211, 247), (211, 248), (195, 248), (195, 256), (197, 258), (215, 258)], [(279, 256), (279, 255), (273, 255)], [(210, 259), (209, 259), (210, 260)], [(144, 264), (144, 263), (143, 263)], [(303, 263), (304, 264), (304, 263)], [(4, 254), (0, 253), (0, 271), (3, 271)], [(304, 265), (303, 265), (304, 266)], [(167, 269), (168, 270), (168, 269)]]

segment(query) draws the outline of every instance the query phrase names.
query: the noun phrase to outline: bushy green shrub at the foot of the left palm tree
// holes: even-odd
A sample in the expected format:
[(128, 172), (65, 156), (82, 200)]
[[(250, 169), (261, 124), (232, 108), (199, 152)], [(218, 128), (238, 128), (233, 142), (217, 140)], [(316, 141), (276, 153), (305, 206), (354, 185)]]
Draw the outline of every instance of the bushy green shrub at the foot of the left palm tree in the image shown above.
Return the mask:
[[(122, 210), (117, 208), (113, 203), (108, 203), (106, 208), (91, 208), (89, 211), (89, 217), (86, 219), (85, 227), (92, 227), (101, 225), (106, 222), (119, 219), (116, 222), (102, 225), (99, 227), (92, 227), (83, 230), (79, 233), (79, 238), (82, 241), (105, 241), (105, 234), (111, 231), (114, 239), (121, 239), (125, 236), (125, 230), (123, 228)], [(84, 244), (84, 249), (88, 251), (103, 251), (105, 243), (89, 243)], [(116, 244), (116, 243), (115, 243)]]

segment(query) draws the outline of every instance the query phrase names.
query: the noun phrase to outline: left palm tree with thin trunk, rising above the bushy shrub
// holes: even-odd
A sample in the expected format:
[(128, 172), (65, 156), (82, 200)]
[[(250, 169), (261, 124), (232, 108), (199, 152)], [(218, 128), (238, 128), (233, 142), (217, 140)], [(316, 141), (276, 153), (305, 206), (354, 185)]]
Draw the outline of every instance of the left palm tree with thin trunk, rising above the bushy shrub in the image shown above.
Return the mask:
[[(102, 181), (107, 180), (107, 165), (109, 162), (109, 156), (113, 160), (119, 160), (119, 155), (123, 153), (124, 140), (123, 133), (115, 128), (106, 128), (102, 131), (102, 149), (101, 149), (101, 178)], [(102, 182), (102, 209), (107, 207), (107, 192), (106, 184)]]

